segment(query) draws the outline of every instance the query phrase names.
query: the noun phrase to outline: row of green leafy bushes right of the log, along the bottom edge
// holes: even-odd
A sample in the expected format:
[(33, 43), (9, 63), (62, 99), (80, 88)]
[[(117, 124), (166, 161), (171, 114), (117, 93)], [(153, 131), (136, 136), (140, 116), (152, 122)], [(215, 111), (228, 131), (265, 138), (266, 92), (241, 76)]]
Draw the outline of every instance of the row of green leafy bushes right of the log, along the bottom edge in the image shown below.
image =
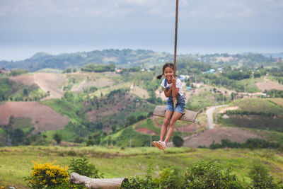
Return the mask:
[(231, 167), (222, 170), (216, 161), (198, 161), (191, 168), (187, 168), (183, 175), (178, 167), (173, 167), (161, 171), (160, 178), (152, 178), (152, 168), (149, 165), (144, 178), (131, 178), (129, 182), (123, 183), (121, 188), (283, 188), (283, 182), (275, 183), (260, 161), (255, 161), (249, 175), (253, 180), (250, 184), (239, 181), (232, 173)]

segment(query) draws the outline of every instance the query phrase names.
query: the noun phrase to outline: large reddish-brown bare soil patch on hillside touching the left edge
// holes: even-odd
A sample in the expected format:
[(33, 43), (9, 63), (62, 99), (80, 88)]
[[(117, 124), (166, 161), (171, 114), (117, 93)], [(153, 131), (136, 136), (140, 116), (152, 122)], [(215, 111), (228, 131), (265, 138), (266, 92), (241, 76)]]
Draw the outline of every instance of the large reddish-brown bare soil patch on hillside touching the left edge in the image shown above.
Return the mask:
[(15, 118), (31, 118), (35, 127), (33, 134), (60, 130), (69, 123), (69, 118), (38, 102), (7, 102), (0, 105), (0, 112), (0, 125), (7, 125), (11, 115)]

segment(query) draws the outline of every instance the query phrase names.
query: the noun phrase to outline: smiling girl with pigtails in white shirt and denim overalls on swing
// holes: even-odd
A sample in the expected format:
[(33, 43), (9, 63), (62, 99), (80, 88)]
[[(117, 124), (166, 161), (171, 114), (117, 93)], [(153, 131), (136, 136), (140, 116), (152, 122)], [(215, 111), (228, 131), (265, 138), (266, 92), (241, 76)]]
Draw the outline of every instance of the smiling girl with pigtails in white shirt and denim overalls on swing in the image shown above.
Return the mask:
[[(165, 118), (161, 127), (160, 140), (152, 142), (155, 147), (162, 149), (163, 151), (166, 149), (167, 143), (173, 134), (175, 122), (179, 120), (181, 115), (183, 115), (183, 110), (185, 109), (185, 98), (182, 91), (182, 82), (180, 79), (176, 79), (175, 76), (173, 76), (174, 69), (174, 64), (172, 63), (166, 63), (163, 65), (162, 75), (165, 76), (165, 79), (163, 79), (161, 82), (161, 86), (164, 88), (165, 96), (168, 97), (167, 107), (165, 109)], [(162, 75), (157, 76), (157, 79), (161, 79)], [(173, 97), (175, 97), (177, 100), (175, 109), (173, 105)], [(168, 125), (169, 127), (167, 127)], [(165, 134), (166, 138), (164, 140)]]

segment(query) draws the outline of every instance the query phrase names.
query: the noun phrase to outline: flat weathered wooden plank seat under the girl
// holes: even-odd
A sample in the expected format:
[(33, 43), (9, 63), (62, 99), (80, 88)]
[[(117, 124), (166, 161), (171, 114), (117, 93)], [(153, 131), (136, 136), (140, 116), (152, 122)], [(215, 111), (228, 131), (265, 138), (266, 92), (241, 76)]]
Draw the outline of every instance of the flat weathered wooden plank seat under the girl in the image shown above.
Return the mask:
[[(154, 109), (154, 115), (165, 117), (165, 108), (166, 105), (157, 105)], [(179, 120), (187, 121), (187, 122), (195, 122), (195, 118), (197, 118), (197, 112), (191, 110), (184, 110), (184, 114), (181, 116)]]

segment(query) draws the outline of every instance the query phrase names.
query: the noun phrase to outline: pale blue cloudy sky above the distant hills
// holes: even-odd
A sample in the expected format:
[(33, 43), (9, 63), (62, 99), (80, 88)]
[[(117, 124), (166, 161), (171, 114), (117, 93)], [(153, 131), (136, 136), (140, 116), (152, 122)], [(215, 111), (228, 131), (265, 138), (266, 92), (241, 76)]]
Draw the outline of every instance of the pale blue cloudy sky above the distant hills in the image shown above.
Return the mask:
[[(174, 48), (175, 0), (0, 0), (0, 60)], [(283, 52), (283, 0), (180, 0), (178, 54)]]

